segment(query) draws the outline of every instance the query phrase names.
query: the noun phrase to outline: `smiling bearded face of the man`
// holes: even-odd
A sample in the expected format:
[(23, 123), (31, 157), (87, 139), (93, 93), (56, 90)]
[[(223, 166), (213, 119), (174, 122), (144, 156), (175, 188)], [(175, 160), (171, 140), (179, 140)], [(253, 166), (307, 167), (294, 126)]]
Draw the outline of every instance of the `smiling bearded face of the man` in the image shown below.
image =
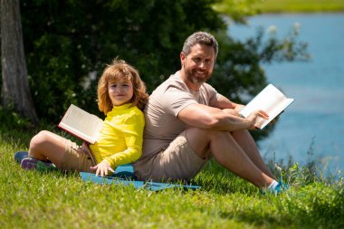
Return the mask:
[(187, 56), (182, 52), (180, 54), (180, 60), (185, 72), (186, 81), (199, 87), (213, 73), (215, 50), (212, 46), (196, 43), (191, 47), (190, 51)]

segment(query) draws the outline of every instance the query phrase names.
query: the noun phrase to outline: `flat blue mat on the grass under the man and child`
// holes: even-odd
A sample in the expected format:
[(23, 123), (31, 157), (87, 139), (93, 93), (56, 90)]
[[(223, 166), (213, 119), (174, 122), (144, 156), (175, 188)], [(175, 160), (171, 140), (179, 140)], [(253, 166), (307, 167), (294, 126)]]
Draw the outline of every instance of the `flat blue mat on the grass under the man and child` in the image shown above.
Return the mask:
[(134, 175), (134, 168), (131, 165), (123, 165), (116, 168), (114, 175), (109, 177), (96, 177), (95, 174), (81, 172), (81, 179), (83, 181), (91, 181), (95, 184), (108, 184), (108, 185), (124, 185), (124, 186), (134, 186), (135, 188), (146, 188), (151, 191), (159, 191), (166, 188), (183, 188), (183, 189), (193, 189), (196, 190), (201, 186), (191, 186), (191, 185), (176, 185), (168, 183), (158, 183), (151, 181), (139, 181), (136, 180)]

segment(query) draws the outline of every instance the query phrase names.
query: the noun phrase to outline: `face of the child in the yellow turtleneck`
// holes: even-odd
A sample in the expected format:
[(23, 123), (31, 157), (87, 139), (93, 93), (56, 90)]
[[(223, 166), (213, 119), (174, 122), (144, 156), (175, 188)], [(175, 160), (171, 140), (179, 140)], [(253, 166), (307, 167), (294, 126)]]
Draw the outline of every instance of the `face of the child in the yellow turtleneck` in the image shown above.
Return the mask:
[(110, 82), (108, 91), (113, 106), (129, 103), (134, 95), (132, 82), (127, 79)]

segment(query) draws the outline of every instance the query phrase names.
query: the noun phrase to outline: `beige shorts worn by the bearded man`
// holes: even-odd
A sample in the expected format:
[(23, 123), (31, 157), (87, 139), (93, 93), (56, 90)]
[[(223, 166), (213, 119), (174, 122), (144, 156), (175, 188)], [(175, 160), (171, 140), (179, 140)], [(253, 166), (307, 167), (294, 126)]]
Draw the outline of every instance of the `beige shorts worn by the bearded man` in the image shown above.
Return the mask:
[(209, 158), (202, 159), (196, 155), (188, 144), (184, 131), (166, 149), (135, 163), (134, 173), (140, 180), (187, 181), (205, 167)]

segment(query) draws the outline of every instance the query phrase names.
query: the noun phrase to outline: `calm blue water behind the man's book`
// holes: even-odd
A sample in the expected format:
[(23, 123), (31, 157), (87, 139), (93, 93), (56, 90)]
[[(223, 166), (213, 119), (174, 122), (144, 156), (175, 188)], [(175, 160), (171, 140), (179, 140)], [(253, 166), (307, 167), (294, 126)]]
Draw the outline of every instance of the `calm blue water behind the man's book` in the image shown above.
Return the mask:
[(282, 114), (269, 138), (259, 143), (265, 157), (290, 156), (304, 164), (311, 159), (330, 172), (344, 168), (344, 14), (264, 14), (249, 18), (249, 25), (231, 25), (240, 40), (258, 27), (276, 28), (285, 36), (300, 26), (299, 40), (309, 43), (311, 62), (283, 62), (264, 66), (269, 82), (295, 101)]

